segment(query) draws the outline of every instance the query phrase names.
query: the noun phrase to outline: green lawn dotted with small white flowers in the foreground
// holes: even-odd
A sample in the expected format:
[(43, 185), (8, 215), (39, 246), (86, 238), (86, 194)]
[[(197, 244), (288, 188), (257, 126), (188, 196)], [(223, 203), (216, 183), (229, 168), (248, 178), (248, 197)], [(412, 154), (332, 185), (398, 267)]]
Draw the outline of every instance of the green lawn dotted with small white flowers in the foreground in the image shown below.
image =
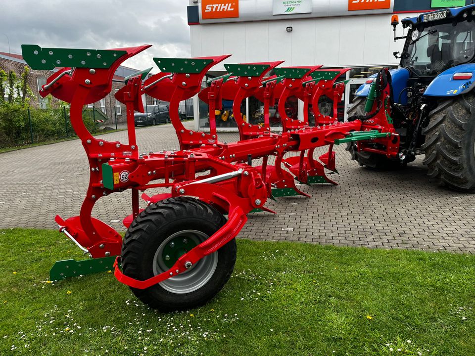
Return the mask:
[(78, 251), (0, 230), (0, 355), (475, 355), (475, 256), (239, 240), (217, 298), (162, 314), (113, 274), (47, 283)]

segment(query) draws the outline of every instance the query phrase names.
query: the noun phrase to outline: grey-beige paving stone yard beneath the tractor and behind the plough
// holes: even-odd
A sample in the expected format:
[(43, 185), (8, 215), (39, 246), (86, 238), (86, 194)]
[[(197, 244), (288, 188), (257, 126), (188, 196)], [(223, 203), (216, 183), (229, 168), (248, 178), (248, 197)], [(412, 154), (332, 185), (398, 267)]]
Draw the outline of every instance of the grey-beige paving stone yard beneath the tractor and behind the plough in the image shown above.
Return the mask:
[[(185, 126), (192, 128), (193, 123)], [(126, 135), (101, 137), (127, 141)], [(220, 134), (223, 141), (237, 138), (237, 134)], [(178, 148), (171, 125), (141, 128), (137, 139), (144, 152)], [(331, 177), (339, 185), (300, 185), (311, 198), (269, 200), (267, 207), (277, 214), (249, 214), (239, 237), (475, 253), (475, 195), (430, 183), (422, 157), (406, 170), (373, 172), (360, 168), (343, 147), (337, 147), (336, 162), (340, 174)], [(89, 180), (79, 140), (1, 153), (0, 167), (0, 228), (54, 229), (56, 214), (79, 215)], [(126, 191), (101, 198), (93, 215), (122, 231), (121, 221), (130, 209), (130, 191)]]

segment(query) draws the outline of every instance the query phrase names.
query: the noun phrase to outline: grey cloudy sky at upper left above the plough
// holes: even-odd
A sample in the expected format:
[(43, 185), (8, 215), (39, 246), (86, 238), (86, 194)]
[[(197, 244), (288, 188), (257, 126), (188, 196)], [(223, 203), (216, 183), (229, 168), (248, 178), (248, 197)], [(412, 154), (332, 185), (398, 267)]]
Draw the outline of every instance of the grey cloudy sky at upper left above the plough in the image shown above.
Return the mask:
[[(114, 48), (149, 44), (124, 65), (144, 69), (152, 57), (190, 56), (187, 0), (0, 0), (0, 52), (22, 44)], [(156, 67), (155, 72), (158, 72)]]

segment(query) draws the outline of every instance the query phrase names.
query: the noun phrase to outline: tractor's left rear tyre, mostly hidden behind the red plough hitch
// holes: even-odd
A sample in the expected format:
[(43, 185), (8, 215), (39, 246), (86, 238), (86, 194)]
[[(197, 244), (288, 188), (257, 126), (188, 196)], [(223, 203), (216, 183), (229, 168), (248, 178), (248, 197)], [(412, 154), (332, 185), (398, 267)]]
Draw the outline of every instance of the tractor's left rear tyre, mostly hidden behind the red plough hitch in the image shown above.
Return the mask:
[[(357, 96), (353, 100), (353, 106), (348, 109), (348, 117), (351, 116), (364, 116), (365, 115), (365, 102), (366, 98)], [(389, 171), (397, 170), (406, 167), (407, 163), (401, 163), (399, 159), (388, 159), (386, 156), (371, 153), (371, 152), (358, 152), (356, 142), (348, 142), (346, 150), (350, 152), (351, 159), (359, 163), (361, 167), (370, 168), (377, 171)]]

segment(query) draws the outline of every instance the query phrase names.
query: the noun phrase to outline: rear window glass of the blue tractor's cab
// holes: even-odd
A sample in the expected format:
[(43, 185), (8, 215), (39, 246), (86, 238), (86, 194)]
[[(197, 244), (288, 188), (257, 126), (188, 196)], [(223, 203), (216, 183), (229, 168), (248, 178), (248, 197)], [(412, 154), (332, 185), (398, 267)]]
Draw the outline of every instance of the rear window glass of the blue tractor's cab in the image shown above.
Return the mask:
[(416, 41), (408, 40), (402, 65), (417, 76), (435, 76), (469, 62), (475, 55), (474, 41), (472, 22), (427, 26)]

